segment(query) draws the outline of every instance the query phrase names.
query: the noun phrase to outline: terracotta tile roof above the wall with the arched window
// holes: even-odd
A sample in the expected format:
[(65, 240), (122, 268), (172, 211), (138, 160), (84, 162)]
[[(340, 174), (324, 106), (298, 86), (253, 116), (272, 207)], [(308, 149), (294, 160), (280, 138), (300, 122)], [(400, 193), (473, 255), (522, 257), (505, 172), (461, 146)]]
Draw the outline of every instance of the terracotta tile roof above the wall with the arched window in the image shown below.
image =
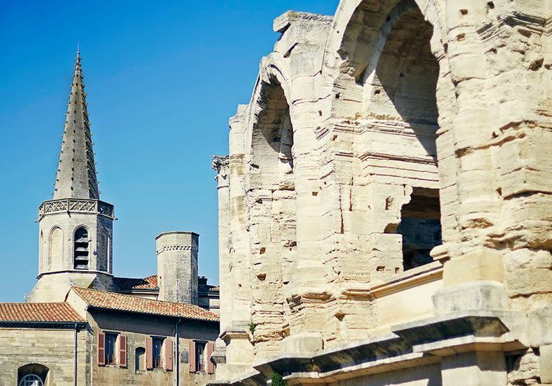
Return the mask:
[(68, 303), (0, 303), (0, 322), (86, 322)]

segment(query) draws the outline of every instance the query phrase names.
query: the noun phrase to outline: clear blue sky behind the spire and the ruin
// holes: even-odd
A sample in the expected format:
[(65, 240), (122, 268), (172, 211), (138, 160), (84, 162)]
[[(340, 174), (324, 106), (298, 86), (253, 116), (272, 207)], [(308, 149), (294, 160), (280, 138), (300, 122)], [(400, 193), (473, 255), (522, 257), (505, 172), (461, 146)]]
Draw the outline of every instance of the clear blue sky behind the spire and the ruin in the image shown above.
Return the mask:
[(211, 155), (248, 102), (285, 10), (338, 0), (0, 0), (0, 302), (38, 270), (37, 209), (51, 199), (80, 43), (101, 198), (114, 203), (114, 273), (156, 273), (154, 237), (200, 233), (200, 275), (218, 283)]

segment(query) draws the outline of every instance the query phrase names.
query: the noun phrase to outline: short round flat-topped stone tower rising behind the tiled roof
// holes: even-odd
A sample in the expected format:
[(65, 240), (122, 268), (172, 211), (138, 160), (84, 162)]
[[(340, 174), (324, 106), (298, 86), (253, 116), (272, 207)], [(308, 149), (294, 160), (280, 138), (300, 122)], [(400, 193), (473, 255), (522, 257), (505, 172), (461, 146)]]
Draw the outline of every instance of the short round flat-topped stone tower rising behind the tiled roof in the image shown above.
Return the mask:
[(159, 300), (197, 304), (200, 235), (164, 232), (156, 237)]

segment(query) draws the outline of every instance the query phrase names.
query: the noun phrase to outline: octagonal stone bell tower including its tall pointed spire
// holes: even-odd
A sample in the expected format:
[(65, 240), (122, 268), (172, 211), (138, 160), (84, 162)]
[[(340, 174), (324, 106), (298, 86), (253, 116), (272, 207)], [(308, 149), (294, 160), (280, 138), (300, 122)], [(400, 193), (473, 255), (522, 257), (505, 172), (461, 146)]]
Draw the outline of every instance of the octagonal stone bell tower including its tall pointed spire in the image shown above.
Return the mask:
[(100, 200), (80, 53), (52, 200), (38, 209), (38, 282), (27, 302), (63, 301), (70, 286), (112, 283), (114, 206)]

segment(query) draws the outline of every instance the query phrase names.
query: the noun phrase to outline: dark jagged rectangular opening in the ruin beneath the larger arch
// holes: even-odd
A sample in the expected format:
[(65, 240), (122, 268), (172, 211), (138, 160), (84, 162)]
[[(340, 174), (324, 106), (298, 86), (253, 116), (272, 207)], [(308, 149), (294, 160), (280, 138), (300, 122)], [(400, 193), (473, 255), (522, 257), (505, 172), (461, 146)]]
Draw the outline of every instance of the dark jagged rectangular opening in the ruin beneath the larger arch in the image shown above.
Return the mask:
[(397, 228), (403, 236), (404, 270), (433, 261), (429, 252), (442, 244), (440, 215), (439, 191), (415, 187)]

